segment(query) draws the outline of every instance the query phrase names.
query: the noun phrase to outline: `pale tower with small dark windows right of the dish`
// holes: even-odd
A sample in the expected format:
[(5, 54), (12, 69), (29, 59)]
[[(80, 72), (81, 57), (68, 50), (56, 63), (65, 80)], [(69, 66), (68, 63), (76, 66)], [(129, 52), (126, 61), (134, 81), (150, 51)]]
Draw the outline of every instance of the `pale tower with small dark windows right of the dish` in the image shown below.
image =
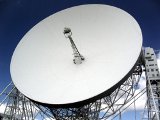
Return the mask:
[(148, 119), (160, 120), (160, 74), (153, 48), (144, 48)]

